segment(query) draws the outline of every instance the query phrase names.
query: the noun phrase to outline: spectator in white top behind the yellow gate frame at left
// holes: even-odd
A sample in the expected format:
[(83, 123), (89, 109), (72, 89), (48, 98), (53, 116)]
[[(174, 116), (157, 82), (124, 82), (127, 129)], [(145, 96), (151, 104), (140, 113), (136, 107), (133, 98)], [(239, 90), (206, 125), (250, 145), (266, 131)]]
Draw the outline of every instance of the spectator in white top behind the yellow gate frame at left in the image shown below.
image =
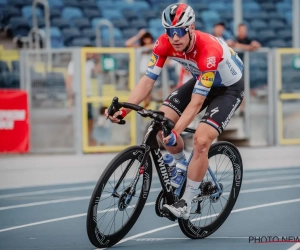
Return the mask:
[[(86, 45), (84, 47), (92, 47), (90, 45)], [(79, 65), (78, 65), (79, 66)], [(75, 70), (80, 70), (79, 68), (74, 67), (73, 61), (69, 62), (68, 65), (68, 72), (67, 72), (67, 77), (65, 81), (66, 85), (66, 90), (68, 94), (68, 100), (69, 100), (69, 105), (71, 111), (73, 110), (73, 105), (74, 105), (74, 95), (73, 95), (73, 75)], [(99, 57), (97, 54), (92, 54), (92, 53), (87, 53), (86, 54), (86, 63), (85, 63), (85, 84), (86, 84), (86, 95), (87, 97), (92, 95), (92, 87), (91, 87), (91, 78), (93, 73), (100, 73), (101, 68), (100, 68), (100, 63), (99, 63)], [(91, 138), (91, 132), (93, 129), (93, 111), (92, 111), (92, 104), (88, 103), (87, 104), (87, 109), (88, 109), (88, 135), (89, 135), (89, 140), (88, 144), (89, 145), (95, 145), (95, 142)]]

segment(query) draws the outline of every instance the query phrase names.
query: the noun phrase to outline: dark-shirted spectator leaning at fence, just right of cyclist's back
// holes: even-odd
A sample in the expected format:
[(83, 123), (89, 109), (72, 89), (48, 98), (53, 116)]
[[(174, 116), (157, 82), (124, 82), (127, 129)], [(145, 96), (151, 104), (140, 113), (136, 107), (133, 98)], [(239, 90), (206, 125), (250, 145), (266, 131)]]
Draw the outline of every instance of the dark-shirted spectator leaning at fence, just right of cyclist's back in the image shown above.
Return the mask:
[[(247, 36), (247, 26), (244, 23), (239, 24), (237, 30), (237, 36), (235, 38), (233, 48), (239, 52), (239, 57), (242, 61), (244, 61), (244, 53), (243, 51), (255, 51), (261, 47), (261, 44), (255, 40), (250, 39)], [(244, 74), (242, 76), (241, 81), (244, 81)], [(244, 116), (245, 112), (245, 98), (243, 99), (241, 106), (239, 108), (240, 116)]]

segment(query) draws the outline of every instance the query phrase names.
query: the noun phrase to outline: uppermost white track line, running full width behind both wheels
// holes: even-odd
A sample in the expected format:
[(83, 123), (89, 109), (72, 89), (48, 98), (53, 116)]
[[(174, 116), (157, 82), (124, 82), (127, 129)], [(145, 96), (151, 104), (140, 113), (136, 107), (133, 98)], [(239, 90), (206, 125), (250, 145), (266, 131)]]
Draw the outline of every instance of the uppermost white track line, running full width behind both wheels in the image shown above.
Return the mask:
[[(259, 174), (259, 175), (261, 175), (261, 174)], [(244, 174), (244, 176), (245, 176), (245, 174)], [(249, 183), (257, 183), (257, 182), (269, 182), (269, 181), (281, 181), (281, 180), (284, 181), (284, 180), (294, 180), (294, 179), (300, 179), (300, 175), (293, 175), (293, 176), (287, 176), (287, 177), (261, 178), (261, 179), (255, 179), (255, 180), (243, 180), (243, 183), (249, 184)], [(152, 181), (152, 184), (156, 184), (156, 183), (159, 183), (158, 179)], [(74, 188), (60, 188), (60, 189), (50, 189), (50, 190), (43, 190), (43, 191), (3, 194), (3, 195), (0, 195), (0, 199), (31, 196), (31, 195), (40, 195), (40, 194), (73, 192), (73, 191), (81, 191), (81, 190), (90, 190), (90, 189), (94, 189), (94, 188), (95, 188), (95, 186), (82, 186), (82, 187), (74, 187)]]

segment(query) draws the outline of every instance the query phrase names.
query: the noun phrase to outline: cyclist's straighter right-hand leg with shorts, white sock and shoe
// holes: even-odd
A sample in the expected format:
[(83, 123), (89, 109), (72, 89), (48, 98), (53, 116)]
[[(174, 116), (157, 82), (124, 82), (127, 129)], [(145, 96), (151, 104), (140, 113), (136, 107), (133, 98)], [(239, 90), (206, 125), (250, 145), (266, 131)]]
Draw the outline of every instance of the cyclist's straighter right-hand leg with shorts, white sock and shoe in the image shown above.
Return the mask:
[(183, 201), (167, 206), (177, 217), (187, 219), (191, 201), (208, 168), (208, 151), (211, 143), (223, 132), (243, 99), (243, 85), (236, 83), (227, 88), (212, 89), (207, 99), (208, 108), (194, 136), (194, 154), (188, 166), (186, 189)]

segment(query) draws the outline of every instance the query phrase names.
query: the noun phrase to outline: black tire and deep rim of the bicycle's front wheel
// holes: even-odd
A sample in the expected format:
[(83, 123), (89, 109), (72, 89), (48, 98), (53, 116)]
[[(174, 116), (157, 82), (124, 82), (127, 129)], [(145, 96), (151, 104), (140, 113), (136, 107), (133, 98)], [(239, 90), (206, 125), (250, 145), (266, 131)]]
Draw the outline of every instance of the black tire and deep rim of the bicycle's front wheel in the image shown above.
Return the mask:
[[(103, 203), (105, 203), (106, 199), (107, 199), (107, 198), (103, 198), (103, 200), (101, 200), (101, 196), (105, 192), (105, 185), (108, 183), (111, 186), (111, 189), (113, 189), (113, 187), (109, 181), (110, 177), (114, 175), (115, 171), (121, 166), (122, 163), (124, 163), (128, 160), (134, 159), (134, 161), (137, 160), (138, 162), (141, 162), (141, 160), (143, 158), (142, 156), (144, 155), (144, 153), (145, 153), (145, 148), (143, 148), (141, 146), (132, 146), (127, 149), (124, 149), (122, 152), (120, 152), (118, 155), (116, 155), (114, 157), (114, 159), (109, 163), (109, 165), (106, 167), (106, 169), (102, 173), (101, 177), (99, 178), (99, 180), (96, 184), (96, 187), (93, 191), (93, 194), (91, 196), (91, 200), (90, 200), (88, 212), (87, 212), (87, 219), (86, 219), (87, 234), (88, 234), (90, 242), (95, 247), (97, 247), (97, 248), (111, 247), (111, 246), (115, 245), (116, 243), (118, 243), (130, 231), (130, 229), (133, 227), (133, 225), (137, 221), (138, 217), (140, 216), (140, 214), (143, 210), (143, 207), (147, 201), (150, 187), (151, 187), (152, 163), (151, 163), (150, 156), (148, 157), (146, 164), (145, 164), (145, 172), (142, 176), (140, 176), (140, 177), (142, 177), (141, 178), (142, 179), (141, 192), (140, 192), (140, 195), (138, 197), (136, 197), (138, 200), (137, 200), (134, 210), (132, 211), (131, 217), (129, 217), (128, 220), (126, 221), (126, 223), (124, 225), (122, 225), (122, 227), (119, 230), (115, 231), (113, 234), (105, 234), (105, 232), (103, 232), (102, 228), (99, 228), (98, 221), (97, 221), (98, 214), (102, 213), (102, 212), (99, 213), (98, 206), (100, 205), (101, 201)], [(132, 168), (132, 167), (133, 167), (133, 164), (130, 166), (130, 168)], [(138, 169), (138, 167), (137, 167), (137, 169)], [(124, 171), (123, 171), (123, 173), (124, 173)], [(139, 182), (141, 181), (141, 179), (139, 180)], [(125, 190), (125, 191), (123, 191), (123, 193), (126, 192), (127, 189), (128, 189), (127, 187), (125, 189), (123, 189), (123, 190)], [(113, 201), (115, 201), (114, 199), (116, 197), (113, 196), (113, 193), (114, 192), (112, 191), (111, 195), (110, 194), (105, 194), (105, 195), (108, 196), (109, 198), (113, 199)], [(103, 195), (103, 197), (105, 197), (105, 195)], [(118, 202), (118, 204), (119, 204), (121, 198), (122, 198), (122, 195), (117, 199), (118, 201), (116, 200), (116, 203)], [(103, 210), (103, 213), (108, 214), (108, 212), (106, 212), (106, 210)], [(125, 210), (127, 210), (127, 208), (125, 208)], [(113, 209), (112, 211), (114, 211), (114, 212), (116, 211), (115, 212), (115, 215), (116, 215), (116, 213), (118, 211), (120, 211), (120, 208), (117, 207), (117, 209)], [(127, 213), (127, 215), (128, 215), (128, 213)], [(124, 214), (123, 214), (123, 216), (124, 216)], [(100, 217), (100, 219), (101, 219), (101, 217)]]

